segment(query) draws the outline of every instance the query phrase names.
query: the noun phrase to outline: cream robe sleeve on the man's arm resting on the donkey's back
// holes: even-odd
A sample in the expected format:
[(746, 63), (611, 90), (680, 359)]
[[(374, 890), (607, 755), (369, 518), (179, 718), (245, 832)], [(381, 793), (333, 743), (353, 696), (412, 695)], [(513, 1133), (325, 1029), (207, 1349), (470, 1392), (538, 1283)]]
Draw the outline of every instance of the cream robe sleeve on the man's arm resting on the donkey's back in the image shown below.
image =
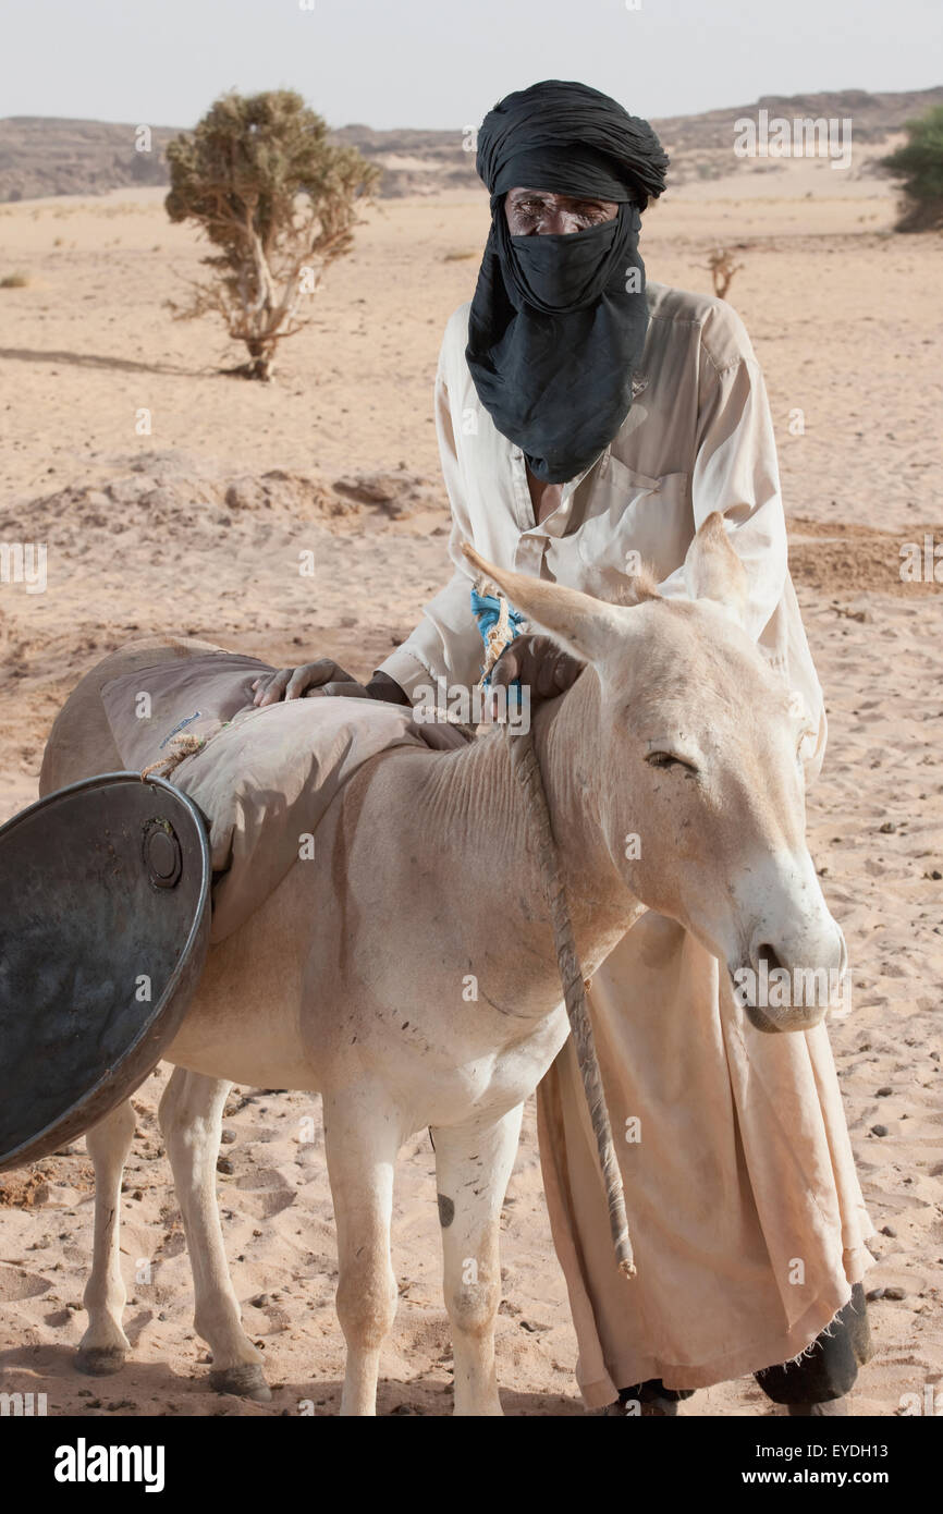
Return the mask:
[(436, 375), (434, 407), (442, 475), (453, 512), (448, 554), (456, 563), (456, 571), (445, 589), (424, 607), (422, 619), (412, 636), (381, 665), (380, 671), (395, 678), (410, 698), (413, 690), (442, 677), (450, 684), (469, 687), (477, 683), (484, 659), (481, 634), (471, 613), (472, 580), (462, 566), (465, 562), (462, 542), (472, 540), (472, 528), (442, 362)]

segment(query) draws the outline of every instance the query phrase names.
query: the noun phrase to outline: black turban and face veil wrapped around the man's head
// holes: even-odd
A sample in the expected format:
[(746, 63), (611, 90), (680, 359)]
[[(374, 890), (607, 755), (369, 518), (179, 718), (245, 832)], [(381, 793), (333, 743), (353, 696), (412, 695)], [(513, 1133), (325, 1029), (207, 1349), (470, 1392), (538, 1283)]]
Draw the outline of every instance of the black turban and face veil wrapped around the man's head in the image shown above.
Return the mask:
[[(468, 366), (496, 428), (548, 483), (604, 451), (631, 406), (648, 327), (640, 210), (668, 157), (648, 121), (587, 85), (507, 95), (478, 132), (492, 227), (469, 318)], [(569, 236), (512, 236), (504, 195), (522, 186), (613, 200), (615, 221)]]

